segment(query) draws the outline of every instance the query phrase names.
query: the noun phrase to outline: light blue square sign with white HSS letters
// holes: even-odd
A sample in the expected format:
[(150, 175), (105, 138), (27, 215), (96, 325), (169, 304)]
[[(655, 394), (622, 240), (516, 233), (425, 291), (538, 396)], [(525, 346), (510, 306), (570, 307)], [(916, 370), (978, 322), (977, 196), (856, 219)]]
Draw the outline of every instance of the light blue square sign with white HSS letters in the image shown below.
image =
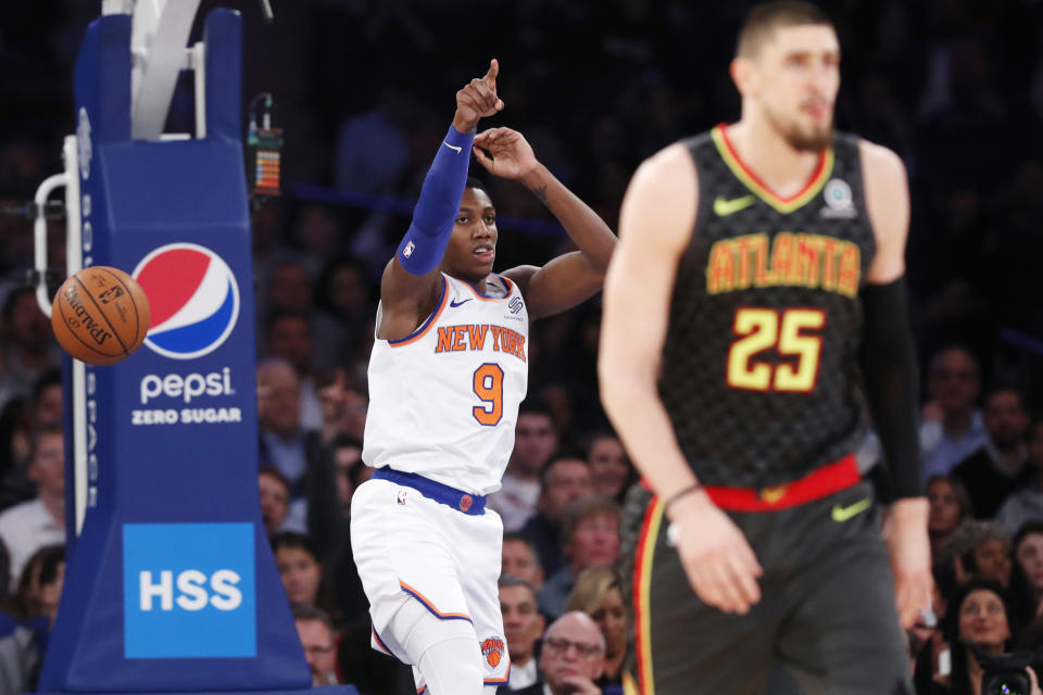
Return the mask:
[(252, 523), (125, 523), (124, 656), (256, 656), (253, 552)]

